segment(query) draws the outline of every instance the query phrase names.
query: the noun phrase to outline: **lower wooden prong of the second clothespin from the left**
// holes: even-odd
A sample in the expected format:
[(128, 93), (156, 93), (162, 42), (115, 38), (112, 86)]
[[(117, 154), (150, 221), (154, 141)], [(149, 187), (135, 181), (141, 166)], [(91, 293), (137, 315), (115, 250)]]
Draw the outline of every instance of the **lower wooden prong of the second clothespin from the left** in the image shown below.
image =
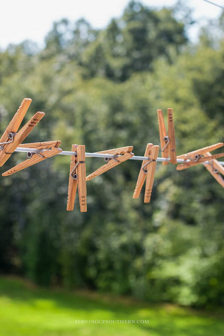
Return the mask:
[(53, 147), (50, 151), (40, 153), (43, 157), (39, 156), (38, 154), (34, 154), (31, 159), (27, 159), (27, 160), (19, 163), (18, 165), (14, 166), (13, 168), (7, 170), (6, 172), (4, 172), (2, 174), (2, 176), (8, 176), (8, 175), (17, 173), (20, 170), (23, 170), (27, 167), (33, 166), (38, 162), (41, 162), (43, 160), (46, 160), (47, 158), (50, 158), (54, 155), (57, 155), (61, 151), (62, 150), (60, 148)]

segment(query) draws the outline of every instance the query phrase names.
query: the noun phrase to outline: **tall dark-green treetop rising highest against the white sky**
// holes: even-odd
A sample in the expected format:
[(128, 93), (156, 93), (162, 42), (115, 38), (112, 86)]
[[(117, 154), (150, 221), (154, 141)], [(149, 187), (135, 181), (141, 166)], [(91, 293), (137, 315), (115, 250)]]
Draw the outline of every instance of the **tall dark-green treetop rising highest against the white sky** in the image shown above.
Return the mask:
[(123, 16), (111, 20), (105, 31), (84, 50), (81, 65), (85, 77), (105, 76), (124, 81), (134, 72), (152, 70), (156, 57), (172, 62), (187, 41), (184, 25), (173, 10), (153, 11), (131, 1)]

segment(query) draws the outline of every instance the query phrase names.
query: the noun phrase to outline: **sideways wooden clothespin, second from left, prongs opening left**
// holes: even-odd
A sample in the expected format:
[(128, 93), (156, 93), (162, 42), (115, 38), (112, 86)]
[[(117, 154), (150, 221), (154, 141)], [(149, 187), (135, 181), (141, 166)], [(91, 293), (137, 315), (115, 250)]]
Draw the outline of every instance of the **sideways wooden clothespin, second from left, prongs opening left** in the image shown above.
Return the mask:
[(27, 167), (33, 166), (38, 162), (51, 158), (54, 155), (57, 155), (62, 150), (58, 148), (61, 144), (61, 141), (47, 141), (47, 142), (34, 142), (34, 143), (24, 143), (19, 145), (20, 148), (33, 148), (39, 150), (45, 150), (41, 153), (27, 153), (28, 159), (19, 163), (15, 167), (7, 170), (2, 176), (8, 176), (14, 173), (17, 173), (19, 170), (23, 170)]

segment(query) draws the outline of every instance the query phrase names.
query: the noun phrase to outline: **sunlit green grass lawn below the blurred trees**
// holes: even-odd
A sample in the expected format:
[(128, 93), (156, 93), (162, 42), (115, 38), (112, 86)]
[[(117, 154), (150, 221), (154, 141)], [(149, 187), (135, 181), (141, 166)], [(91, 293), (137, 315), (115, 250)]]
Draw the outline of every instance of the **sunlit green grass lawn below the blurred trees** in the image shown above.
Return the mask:
[[(149, 320), (148, 324), (76, 324), (75, 320)], [(174, 305), (148, 305), (91, 292), (37, 288), (0, 278), (0, 335), (224, 335), (222, 317)]]

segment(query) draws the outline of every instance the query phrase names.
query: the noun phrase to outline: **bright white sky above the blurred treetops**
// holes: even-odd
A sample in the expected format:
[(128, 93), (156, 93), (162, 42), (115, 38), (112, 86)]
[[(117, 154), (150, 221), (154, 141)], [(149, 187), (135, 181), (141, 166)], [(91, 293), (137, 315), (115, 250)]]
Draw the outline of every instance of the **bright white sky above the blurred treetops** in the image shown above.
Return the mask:
[[(211, 0), (224, 7), (224, 0)], [(69, 18), (73, 21), (85, 17), (94, 28), (105, 27), (112, 17), (119, 17), (128, 0), (38, 0), (1, 1), (0, 7), (0, 48), (9, 43), (20, 43), (26, 39), (43, 45), (44, 37), (53, 21)], [(173, 5), (176, 0), (142, 0), (144, 5), (161, 7)], [(195, 39), (198, 27), (206, 20), (217, 18), (222, 9), (203, 0), (186, 0), (194, 8), (197, 25), (189, 31)]]

